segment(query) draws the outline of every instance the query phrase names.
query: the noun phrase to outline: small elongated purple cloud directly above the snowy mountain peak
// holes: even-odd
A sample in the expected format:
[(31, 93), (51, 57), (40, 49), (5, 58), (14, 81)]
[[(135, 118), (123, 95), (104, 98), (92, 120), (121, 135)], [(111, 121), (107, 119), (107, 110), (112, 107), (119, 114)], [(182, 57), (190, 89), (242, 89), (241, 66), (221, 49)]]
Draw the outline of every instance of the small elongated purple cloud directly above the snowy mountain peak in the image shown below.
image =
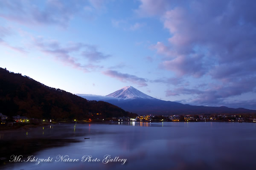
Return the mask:
[(102, 73), (109, 77), (118, 79), (121, 82), (131, 82), (131, 83), (139, 85), (140, 87), (147, 86), (146, 79), (140, 78), (140, 77), (137, 77), (137, 76), (134, 76), (131, 74), (123, 74), (123, 73), (120, 73), (118, 71), (113, 71), (113, 70), (107, 70)]

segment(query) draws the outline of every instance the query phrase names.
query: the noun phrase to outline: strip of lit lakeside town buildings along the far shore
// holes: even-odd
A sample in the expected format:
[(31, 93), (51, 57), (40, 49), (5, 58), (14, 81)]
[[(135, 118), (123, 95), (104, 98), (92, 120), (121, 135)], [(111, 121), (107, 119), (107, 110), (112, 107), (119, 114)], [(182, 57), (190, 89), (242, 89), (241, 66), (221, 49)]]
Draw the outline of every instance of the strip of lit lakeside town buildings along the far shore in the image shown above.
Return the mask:
[(54, 122), (256, 122), (254, 114), (211, 114), (211, 115), (139, 115), (134, 118), (130, 117), (112, 117), (101, 119), (101, 113), (92, 114), (90, 119), (73, 119), (73, 120), (54, 120), (54, 119), (33, 119), (26, 116), (8, 117), (0, 113), (0, 125), (12, 126), (16, 123), (54, 123)]

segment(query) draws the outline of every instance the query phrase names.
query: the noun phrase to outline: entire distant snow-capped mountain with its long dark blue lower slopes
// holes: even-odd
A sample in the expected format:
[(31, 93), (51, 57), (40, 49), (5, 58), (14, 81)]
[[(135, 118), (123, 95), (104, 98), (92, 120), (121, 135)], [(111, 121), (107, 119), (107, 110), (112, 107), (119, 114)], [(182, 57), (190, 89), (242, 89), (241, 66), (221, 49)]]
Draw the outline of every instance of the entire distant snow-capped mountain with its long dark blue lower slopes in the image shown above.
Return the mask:
[(256, 113), (255, 110), (244, 108), (227, 108), (184, 105), (178, 102), (164, 101), (148, 96), (132, 86), (126, 86), (107, 96), (77, 94), (88, 100), (105, 101), (116, 105), (125, 111), (138, 114), (213, 114), (213, 113)]

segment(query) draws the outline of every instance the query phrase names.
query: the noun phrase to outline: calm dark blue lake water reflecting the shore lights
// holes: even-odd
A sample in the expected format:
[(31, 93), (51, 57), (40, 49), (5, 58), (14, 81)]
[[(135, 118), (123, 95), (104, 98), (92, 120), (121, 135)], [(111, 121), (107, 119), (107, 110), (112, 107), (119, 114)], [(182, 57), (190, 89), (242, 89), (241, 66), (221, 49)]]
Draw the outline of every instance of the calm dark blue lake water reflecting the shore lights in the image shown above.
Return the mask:
[[(84, 139), (90, 138), (90, 139)], [(76, 142), (40, 148), (29, 153), (52, 162), (11, 162), (0, 169), (10, 170), (254, 170), (256, 168), (256, 124), (225, 122), (160, 122), (119, 124), (60, 124), (37, 127), (29, 131), (1, 133), (1, 142), (23, 141), (21, 149), (34, 139)], [(54, 140), (53, 140), (54, 139)], [(25, 141), (25, 144), (24, 144)], [(54, 144), (53, 142), (53, 144)], [(4, 146), (0, 146), (4, 147)], [(41, 150), (40, 150), (41, 149)], [(14, 150), (10, 149), (9, 155)], [(22, 152), (19, 153), (23, 155)], [(69, 156), (78, 162), (55, 162), (56, 156)], [(99, 162), (82, 162), (83, 156)], [(127, 159), (106, 163), (111, 159)], [(21, 160), (26, 161), (28, 155)], [(67, 156), (65, 158), (67, 158)], [(31, 157), (31, 158), (32, 158)], [(85, 157), (84, 157), (85, 158)], [(4, 158), (1, 158), (4, 159)], [(8, 160), (10, 157), (8, 156)], [(63, 159), (64, 160), (64, 159)], [(102, 162), (105, 161), (105, 164)]]

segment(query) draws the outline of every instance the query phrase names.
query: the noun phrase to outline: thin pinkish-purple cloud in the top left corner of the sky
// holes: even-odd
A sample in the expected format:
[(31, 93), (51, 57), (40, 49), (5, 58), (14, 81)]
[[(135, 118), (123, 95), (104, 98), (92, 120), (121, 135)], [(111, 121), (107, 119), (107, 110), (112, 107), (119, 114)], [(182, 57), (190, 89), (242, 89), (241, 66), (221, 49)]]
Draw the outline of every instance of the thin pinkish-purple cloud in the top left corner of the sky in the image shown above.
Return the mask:
[(70, 20), (76, 14), (86, 16), (88, 9), (102, 9), (103, 0), (47, 0), (43, 1), (40, 6), (39, 1), (19, 0), (8, 1), (0, 0), (0, 17), (6, 20), (15, 21), (25, 25), (59, 25), (67, 27)]

